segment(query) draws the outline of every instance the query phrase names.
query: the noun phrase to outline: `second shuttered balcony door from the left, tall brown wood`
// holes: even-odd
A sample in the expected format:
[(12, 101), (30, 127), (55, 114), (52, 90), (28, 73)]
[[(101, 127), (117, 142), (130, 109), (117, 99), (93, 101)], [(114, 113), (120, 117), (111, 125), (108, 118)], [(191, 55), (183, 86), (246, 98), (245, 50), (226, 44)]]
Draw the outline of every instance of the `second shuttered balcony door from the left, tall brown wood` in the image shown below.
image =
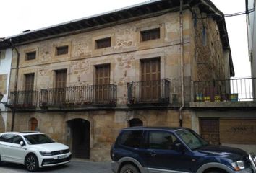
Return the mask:
[(56, 71), (55, 103), (64, 103), (66, 99), (67, 70)]

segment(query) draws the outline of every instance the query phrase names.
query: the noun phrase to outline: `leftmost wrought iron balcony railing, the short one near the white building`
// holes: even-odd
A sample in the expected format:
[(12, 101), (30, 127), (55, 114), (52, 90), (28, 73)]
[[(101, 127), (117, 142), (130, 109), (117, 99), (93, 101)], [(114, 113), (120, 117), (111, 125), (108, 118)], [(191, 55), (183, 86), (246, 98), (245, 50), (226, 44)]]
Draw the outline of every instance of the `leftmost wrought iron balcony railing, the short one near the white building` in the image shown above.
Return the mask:
[(38, 91), (17, 91), (10, 92), (11, 108), (35, 108), (38, 103)]

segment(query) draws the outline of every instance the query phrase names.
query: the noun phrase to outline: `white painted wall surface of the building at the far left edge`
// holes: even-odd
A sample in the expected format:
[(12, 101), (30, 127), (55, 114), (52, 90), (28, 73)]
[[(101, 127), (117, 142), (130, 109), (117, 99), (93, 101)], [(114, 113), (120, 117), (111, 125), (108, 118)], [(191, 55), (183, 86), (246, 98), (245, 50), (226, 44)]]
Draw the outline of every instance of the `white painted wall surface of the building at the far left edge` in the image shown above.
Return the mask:
[[(5, 51), (5, 58), (0, 59), (0, 74), (8, 74), (7, 77), (7, 93), (4, 94), (3, 99), (1, 102), (8, 102), (8, 94), (9, 94), (9, 79), (10, 79), (10, 71), (11, 71), (11, 64), (12, 64), (12, 49), (7, 49)], [(1, 81), (0, 81), (1, 82)], [(0, 115), (4, 120), (5, 130), (7, 129), (7, 107), (4, 104), (0, 104)]]

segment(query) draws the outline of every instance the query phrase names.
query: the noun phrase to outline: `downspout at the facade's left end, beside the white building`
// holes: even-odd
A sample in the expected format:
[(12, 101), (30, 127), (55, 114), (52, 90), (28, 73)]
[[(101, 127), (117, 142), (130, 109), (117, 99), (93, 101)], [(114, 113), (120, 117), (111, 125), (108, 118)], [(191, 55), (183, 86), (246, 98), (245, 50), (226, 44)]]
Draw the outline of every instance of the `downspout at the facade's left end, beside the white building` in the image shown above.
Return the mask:
[[(19, 74), (19, 63), (20, 63), (20, 53), (17, 50), (17, 48), (15, 47), (15, 45), (12, 43), (12, 39), (9, 40), (10, 43), (12, 44), (12, 48), (17, 52), (17, 63), (16, 63), (16, 75), (15, 75), (15, 81), (14, 81), (14, 105), (16, 105), (16, 101), (17, 101), (17, 83), (18, 83), (18, 74)], [(12, 126), (11, 126), (11, 131), (14, 130), (14, 120), (15, 120), (15, 114), (16, 114), (16, 110), (15, 110), (15, 106), (12, 109)]]

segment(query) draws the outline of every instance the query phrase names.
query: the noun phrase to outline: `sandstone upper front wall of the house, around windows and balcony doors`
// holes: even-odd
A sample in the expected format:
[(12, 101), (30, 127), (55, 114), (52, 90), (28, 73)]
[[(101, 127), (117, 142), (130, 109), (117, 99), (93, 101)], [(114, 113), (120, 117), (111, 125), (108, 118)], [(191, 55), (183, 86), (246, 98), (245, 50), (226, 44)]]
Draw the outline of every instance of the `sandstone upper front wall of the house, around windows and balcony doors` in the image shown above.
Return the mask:
[[(190, 94), (190, 19), (189, 11), (184, 12), (184, 71), (187, 95)], [(140, 41), (140, 30), (159, 27), (161, 38)], [(95, 49), (95, 40), (111, 37), (111, 47)], [(56, 46), (68, 45), (67, 55), (56, 56)], [(17, 47), (20, 51), (18, 90), (25, 87), (25, 74), (35, 73), (34, 89), (54, 87), (54, 71), (67, 69), (67, 86), (94, 84), (95, 66), (111, 65), (111, 84), (118, 85), (118, 103), (126, 104), (126, 83), (140, 81), (140, 60), (161, 58), (161, 79), (171, 81), (171, 97), (180, 102), (180, 46), (179, 13), (168, 13), (159, 17), (142, 19), (129, 24), (116, 25), (101, 30), (77, 35), (43, 40)], [(26, 61), (27, 52), (36, 51), (35, 60)], [(17, 53), (12, 63), (10, 90), (14, 90)], [(177, 99), (177, 100), (176, 100)], [(171, 102), (173, 100), (171, 99)]]

